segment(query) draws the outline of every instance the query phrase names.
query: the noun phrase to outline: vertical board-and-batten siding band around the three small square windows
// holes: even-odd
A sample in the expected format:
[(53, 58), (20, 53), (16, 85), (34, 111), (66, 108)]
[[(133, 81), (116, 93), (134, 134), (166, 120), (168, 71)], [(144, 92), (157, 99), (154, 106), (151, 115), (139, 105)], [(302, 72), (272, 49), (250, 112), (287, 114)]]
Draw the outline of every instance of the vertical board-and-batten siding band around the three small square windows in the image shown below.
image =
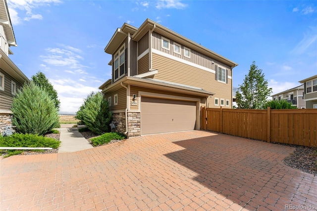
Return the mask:
[[(184, 45), (180, 45), (181, 46), (181, 54), (178, 54), (178, 53), (174, 53), (174, 41), (173, 40), (170, 40), (170, 50), (166, 50), (166, 49), (163, 49), (161, 47), (161, 35), (156, 33), (156, 32), (153, 32), (153, 35), (152, 35), (153, 39), (152, 39), (152, 48), (153, 49), (156, 49), (156, 50), (159, 50), (161, 52), (164, 52), (164, 53), (168, 53), (170, 55), (173, 55), (173, 56), (176, 56), (178, 58), (181, 58), (181, 59), (184, 59), (184, 60), (187, 60), (187, 61), (190, 61), (190, 62), (193, 62), (195, 64), (198, 64), (198, 65), (201, 65), (203, 67), (206, 67), (206, 68), (209, 68), (209, 69), (212, 69), (212, 70), (215, 70), (215, 65), (220, 65), (222, 67), (225, 67), (228, 71), (228, 75), (229, 76), (232, 76), (232, 70), (231, 70), (231, 67), (226, 65), (226, 64), (223, 64), (222, 62), (219, 62), (203, 53), (199, 53), (197, 51), (194, 51), (190, 48), (191, 50), (191, 56), (190, 58), (184, 56)], [(167, 39), (167, 38), (166, 38)], [(186, 47), (187, 48), (187, 47)], [(212, 61), (214, 62), (214, 64), (212, 64)]]

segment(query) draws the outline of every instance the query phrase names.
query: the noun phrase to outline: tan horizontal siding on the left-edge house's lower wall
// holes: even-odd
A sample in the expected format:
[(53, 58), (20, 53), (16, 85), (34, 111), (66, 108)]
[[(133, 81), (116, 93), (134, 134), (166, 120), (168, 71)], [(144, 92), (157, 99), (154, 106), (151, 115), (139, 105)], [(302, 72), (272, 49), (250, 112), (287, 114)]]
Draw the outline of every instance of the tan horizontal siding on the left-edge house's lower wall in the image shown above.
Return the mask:
[(16, 83), (16, 92), (21, 89), (22, 84), (0, 69), (4, 75), (4, 91), (0, 90), (0, 110), (10, 110), (14, 95), (11, 94), (11, 80)]

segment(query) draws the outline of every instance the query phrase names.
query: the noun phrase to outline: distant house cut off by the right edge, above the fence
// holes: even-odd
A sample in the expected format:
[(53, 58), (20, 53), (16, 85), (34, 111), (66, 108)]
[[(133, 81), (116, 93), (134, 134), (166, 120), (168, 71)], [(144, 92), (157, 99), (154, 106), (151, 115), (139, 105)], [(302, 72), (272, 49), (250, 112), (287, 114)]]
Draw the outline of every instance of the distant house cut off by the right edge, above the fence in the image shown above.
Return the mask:
[(299, 81), (304, 84), (306, 108), (317, 108), (317, 75)]

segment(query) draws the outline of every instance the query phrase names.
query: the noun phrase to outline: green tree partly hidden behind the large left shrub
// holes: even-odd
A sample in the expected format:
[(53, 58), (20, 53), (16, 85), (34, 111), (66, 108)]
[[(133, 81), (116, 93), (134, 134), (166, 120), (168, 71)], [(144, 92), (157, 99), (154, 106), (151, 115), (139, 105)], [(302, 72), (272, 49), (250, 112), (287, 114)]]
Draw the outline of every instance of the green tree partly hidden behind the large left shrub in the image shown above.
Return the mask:
[(60, 102), (58, 100), (57, 91), (54, 90), (53, 85), (50, 83), (49, 79), (47, 79), (45, 74), (39, 71), (33, 75), (31, 79), (37, 86), (41, 87), (49, 94), (54, 102), (55, 107), (59, 109)]

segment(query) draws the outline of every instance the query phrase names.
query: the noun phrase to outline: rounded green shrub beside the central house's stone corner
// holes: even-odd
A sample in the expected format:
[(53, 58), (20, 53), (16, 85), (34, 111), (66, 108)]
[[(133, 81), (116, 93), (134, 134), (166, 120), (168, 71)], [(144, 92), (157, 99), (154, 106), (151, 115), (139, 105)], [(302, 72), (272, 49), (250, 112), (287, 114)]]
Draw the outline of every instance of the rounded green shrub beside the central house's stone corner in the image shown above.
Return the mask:
[(98, 135), (110, 130), (109, 124), (112, 114), (109, 111), (108, 102), (101, 92), (92, 92), (88, 95), (87, 99), (84, 100), (84, 104), (76, 112), (75, 117)]

